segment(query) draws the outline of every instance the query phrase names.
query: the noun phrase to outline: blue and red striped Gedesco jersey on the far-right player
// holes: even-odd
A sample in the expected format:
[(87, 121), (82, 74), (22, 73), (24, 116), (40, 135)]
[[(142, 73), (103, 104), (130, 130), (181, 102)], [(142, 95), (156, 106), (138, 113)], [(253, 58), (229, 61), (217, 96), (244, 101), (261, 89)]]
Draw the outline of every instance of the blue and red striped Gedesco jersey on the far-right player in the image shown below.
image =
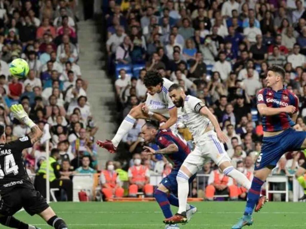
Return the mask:
[[(287, 107), (289, 105), (296, 107), (298, 111), (299, 100), (295, 94), (286, 87), (274, 91), (271, 88), (263, 88), (257, 93), (257, 104), (266, 104), (267, 107)], [(273, 116), (262, 116), (263, 131), (276, 132), (290, 128), (295, 125), (288, 113), (280, 113)]]

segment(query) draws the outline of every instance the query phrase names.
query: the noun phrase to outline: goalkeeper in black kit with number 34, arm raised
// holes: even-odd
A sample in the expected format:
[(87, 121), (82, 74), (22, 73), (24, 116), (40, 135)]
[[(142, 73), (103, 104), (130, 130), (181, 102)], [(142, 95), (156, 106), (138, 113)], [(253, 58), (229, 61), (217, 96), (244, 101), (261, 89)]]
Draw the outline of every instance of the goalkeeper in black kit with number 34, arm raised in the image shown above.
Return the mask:
[(28, 117), (21, 104), (13, 105), (11, 112), (31, 129), (31, 133), (6, 143), (4, 126), (0, 125), (0, 223), (11, 228), (38, 229), (13, 217), (23, 207), (28, 214), (38, 214), (55, 229), (68, 229), (64, 220), (54, 213), (42, 195), (35, 190), (24, 168), (22, 151), (32, 147), (43, 133)]

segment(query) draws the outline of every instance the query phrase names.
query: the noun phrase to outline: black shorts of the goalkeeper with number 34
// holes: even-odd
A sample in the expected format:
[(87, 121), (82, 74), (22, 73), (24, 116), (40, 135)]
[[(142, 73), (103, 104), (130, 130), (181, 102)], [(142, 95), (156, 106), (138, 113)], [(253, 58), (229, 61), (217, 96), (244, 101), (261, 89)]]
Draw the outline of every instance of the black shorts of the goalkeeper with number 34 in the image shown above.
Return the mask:
[(31, 216), (46, 210), (49, 205), (39, 191), (33, 188), (16, 187), (9, 193), (3, 194), (0, 200), (0, 214), (13, 216), (21, 208)]

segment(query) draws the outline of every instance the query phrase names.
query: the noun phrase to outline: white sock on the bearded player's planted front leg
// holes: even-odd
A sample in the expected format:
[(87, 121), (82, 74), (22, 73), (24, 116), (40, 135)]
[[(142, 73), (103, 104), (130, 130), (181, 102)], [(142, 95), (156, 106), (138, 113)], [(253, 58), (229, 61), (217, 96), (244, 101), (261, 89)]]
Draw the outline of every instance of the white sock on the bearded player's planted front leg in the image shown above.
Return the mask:
[(178, 211), (177, 213), (181, 214), (182, 212), (186, 212), (187, 209), (187, 198), (189, 192), (189, 177), (183, 171), (178, 171), (177, 176), (177, 195), (178, 195)]

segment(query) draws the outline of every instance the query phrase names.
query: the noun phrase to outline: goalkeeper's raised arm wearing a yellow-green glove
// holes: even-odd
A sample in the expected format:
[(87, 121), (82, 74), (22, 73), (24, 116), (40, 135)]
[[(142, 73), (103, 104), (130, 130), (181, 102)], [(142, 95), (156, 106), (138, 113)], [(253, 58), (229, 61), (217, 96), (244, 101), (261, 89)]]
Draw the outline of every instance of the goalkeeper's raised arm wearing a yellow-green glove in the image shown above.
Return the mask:
[(24, 122), (25, 125), (31, 128), (31, 133), (29, 137), (31, 139), (31, 143), (34, 144), (36, 141), (43, 136), (43, 132), (39, 129), (39, 127), (29, 118), (28, 114), (24, 111), (21, 104), (14, 104), (11, 106), (11, 112), (14, 117), (19, 121)]

